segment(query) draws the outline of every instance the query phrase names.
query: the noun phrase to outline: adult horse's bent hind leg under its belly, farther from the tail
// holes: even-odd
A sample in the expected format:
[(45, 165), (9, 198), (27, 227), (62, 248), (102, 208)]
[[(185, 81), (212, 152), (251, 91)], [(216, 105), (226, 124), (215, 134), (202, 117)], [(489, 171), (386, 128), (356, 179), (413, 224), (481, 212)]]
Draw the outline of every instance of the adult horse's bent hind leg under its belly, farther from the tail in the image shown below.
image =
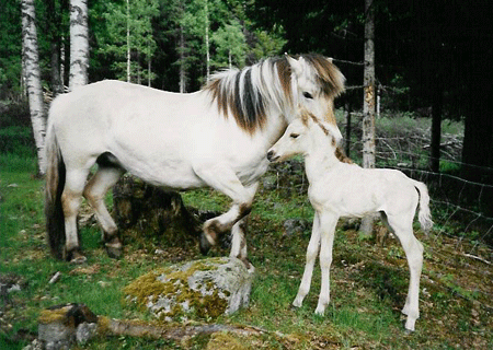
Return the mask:
[(103, 230), (103, 242), (110, 257), (118, 258), (122, 255), (122, 243), (118, 229), (107, 211), (104, 198), (107, 190), (113, 187), (124, 171), (117, 166), (100, 164), (96, 173), (91, 177), (84, 188), (84, 197), (94, 209), (98, 221)]

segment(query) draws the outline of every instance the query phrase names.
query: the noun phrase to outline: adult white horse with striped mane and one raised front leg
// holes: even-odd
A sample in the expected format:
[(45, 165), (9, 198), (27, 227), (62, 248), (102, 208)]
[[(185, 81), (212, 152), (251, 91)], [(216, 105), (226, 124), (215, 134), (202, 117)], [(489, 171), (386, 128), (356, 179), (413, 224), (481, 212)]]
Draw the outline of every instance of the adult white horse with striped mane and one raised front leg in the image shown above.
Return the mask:
[[(125, 172), (172, 189), (210, 186), (232, 200), (205, 222), (200, 248), (231, 230), (230, 256), (246, 259), (242, 222), (250, 212), (267, 150), (301, 105), (334, 126), (344, 75), (319, 55), (265, 59), (215, 74), (198, 92), (177, 94), (101, 81), (58, 96), (48, 117), (46, 219), (51, 253), (83, 262), (77, 213), (84, 196), (110, 255), (122, 244), (104, 197)], [(90, 168), (98, 171), (87, 182)]]

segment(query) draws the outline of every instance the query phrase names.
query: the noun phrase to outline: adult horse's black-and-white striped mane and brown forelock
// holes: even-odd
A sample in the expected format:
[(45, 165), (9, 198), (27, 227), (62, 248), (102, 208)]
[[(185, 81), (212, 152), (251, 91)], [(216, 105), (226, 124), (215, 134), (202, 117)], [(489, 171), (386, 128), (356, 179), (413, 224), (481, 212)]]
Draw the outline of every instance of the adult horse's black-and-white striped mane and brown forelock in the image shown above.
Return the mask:
[[(302, 55), (314, 69), (321, 91), (335, 97), (344, 90), (344, 77), (325, 57)], [(266, 103), (275, 103), (279, 109), (294, 107), (291, 67), (286, 58), (273, 57), (245, 67), (214, 74), (204, 90), (213, 95), (225, 117), (231, 114), (238, 125), (253, 133), (262, 129), (266, 119)]]

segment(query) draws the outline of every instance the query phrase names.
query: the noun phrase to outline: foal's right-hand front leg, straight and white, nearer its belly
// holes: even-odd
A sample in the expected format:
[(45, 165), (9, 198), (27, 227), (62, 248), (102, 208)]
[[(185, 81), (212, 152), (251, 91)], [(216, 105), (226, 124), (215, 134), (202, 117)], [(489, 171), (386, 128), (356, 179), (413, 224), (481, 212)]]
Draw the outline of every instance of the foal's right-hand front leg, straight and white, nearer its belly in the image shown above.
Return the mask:
[(334, 244), (335, 225), (337, 217), (331, 213), (322, 213), (320, 215), (320, 268), (322, 270), (322, 281), (320, 289), (319, 303), (317, 305), (316, 314), (323, 315), (325, 307), (331, 300), (330, 290), (330, 270), (332, 264), (332, 246)]

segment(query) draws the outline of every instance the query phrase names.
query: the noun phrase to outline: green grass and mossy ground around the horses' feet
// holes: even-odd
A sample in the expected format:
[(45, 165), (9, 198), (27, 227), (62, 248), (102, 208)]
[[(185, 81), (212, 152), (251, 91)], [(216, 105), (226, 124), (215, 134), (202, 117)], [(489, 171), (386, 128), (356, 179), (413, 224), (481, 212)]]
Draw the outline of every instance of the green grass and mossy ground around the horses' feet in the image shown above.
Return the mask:
[[(306, 197), (307, 184), (295, 165), (279, 165), (267, 173), (267, 183), (274, 178), (283, 186), (268, 190), (261, 186), (254, 202), (248, 243), (256, 277), (250, 306), (216, 320), (266, 331), (262, 336), (231, 336), (230, 343), (238, 349), (493, 348), (493, 267), (463, 254), (474, 252), (488, 260), (492, 250), (484, 246), (473, 250), (474, 244), (467, 240), (436, 233), (424, 236), (417, 231), (425, 245), (425, 266), (422, 317), (412, 335), (403, 331), (400, 314), (408, 267), (399, 243), (389, 238), (381, 246), (374, 240), (360, 241), (356, 231), (343, 226), (334, 242), (332, 300), (325, 315), (313, 314), (320, 290), (318, 267), (302, 307), (293, 310), (310, 229), (288, 235), (283, 222), (289, 218), (311, 222), (313, 215)], [(289, 172), (297, 176), (288, 176)], [(100, 245), (99, 229), (90, 222), (81, 228), (88, 262), (72, 266), (53, 259), (44, 229), (44, 182), (32, 175), (35, 173), (31, 155), (0, 155), (0, 278), (15, 278), (22, 284), (20, 292), (0, 296), (0, 349), (22, 349), (36, 335), (39, 312), (57, 304), (84, 303), (98, 315), (150, 319), (149, 314), (123, 301), (122, 290), (149, 270), (169, 266), (168, 257), (175, 247), (158, 245), (158, 240), (145, 245), (130, 241), (124, 257), (113, 260)], [(210, 189), (184, 192), (183, 199), (185, 205), (207, 210), (222, 211), (229, 205), (225, 196)], [(167, 254), (154, 254), (157, 247)], [(186, 259), (200, 258), (197, 246), (184, 252)], [(57, 271), (60, 280), (49, 284)], [(206, 349), (207, 345), (220, 349), (220, 343), (221, 335), (183, 341), (101, 337), (78, 349)]]

